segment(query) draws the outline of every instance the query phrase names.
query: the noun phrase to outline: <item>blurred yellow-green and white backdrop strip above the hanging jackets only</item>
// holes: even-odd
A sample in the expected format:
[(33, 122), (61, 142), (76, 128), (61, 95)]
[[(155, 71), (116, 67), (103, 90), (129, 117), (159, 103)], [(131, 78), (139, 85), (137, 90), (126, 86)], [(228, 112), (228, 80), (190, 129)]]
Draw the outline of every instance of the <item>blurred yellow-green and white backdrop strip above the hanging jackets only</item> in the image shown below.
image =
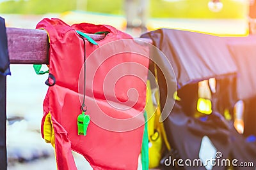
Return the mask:
[[(44, 17), (73, 24), (109, 24), (125, 31), (169, 27), (220, 35), (244, 35), (253, 0), (15, 0), (0, 1), (0, 13), (10, 27), (35, 27)], [(254, 16), (253, 16), (254, 17)], [(26, 18), (26, 20), (25, 20)], [(137, 34), (136, 34), (137, 33)]]

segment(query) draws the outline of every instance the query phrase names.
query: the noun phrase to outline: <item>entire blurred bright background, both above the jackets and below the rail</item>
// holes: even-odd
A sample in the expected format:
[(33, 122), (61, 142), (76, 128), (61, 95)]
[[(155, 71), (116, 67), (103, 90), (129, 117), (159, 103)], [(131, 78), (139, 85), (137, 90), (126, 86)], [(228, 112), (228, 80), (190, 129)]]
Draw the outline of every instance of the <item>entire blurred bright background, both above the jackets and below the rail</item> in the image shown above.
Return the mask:
[[(35, 29), (43, 18), (67, 24), (108, 24), (140, 36), (158, 28), (183, 29), (218, 36), (254, 33), (253, 0), (0, 0), (6, 27)], [(31, 65), (11, 65), (7, 80), (8, 169), (56, 169), (54, 152), (40, 136), (47, 75)], [(75, 153), (74, 153), (75, 154)], [(77, 167), (84, 159), (76, 155)]]

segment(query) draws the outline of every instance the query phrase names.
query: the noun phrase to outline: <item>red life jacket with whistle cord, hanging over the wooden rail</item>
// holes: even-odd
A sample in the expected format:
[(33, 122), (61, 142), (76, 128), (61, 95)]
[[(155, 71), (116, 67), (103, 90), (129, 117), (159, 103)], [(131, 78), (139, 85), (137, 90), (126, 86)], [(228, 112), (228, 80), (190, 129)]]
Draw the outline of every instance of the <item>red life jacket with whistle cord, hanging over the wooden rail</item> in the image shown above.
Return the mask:
[[(70, 26), (56, 18), (45, 18), (38, 23), (36, 29), (45, 29), (48, 32), (49, 73), (56, 79), (45, 97), (41, 127), (42, 137), (55, 148), (58, 169), (77, 169), (71, 150), (81, 153), (93, 169), (137, 169), (145, 122), (143, 111), (149, 61), (145, 56), (148, 56), (148, 48), (135, 43), (131, 36), (109, 25), (83, 23)], [(81, 113), (83, 96), (83, 85), (79, 87), (79, 74), (83, 73), (84, 42), (76, 31), (91, 34), (109, 32), (104, 39), (96, 41), (98, 45), (85, 41), (85, 103), (88, 106), (86, 114), (90, 115), (92, 120), (86, 136), (77, 134), (77, 116)], [(118, 42), (118, 45), (108, 45), (118, 39), (127, 39), (131, 43)], [(136, 48), (131, 50), (144, 56), (129, 52), (116, 53), (116, 56), (113, 55), (114, 57), (109, 57), (104, 62), (100, 61), (102, 55), (111, 55), (115, 50), (122, 51), (122, 48)], [(88, 57), (90, 54), (92, 56)], [(143, 69), (138, 69), (137, 65), (133, 67), (132, 62), (143, 66)], [(123, 63), (128, 65), (122, 66)], [(118, 69), (115, 70), (115, 67)], [(140, 78), (132, 75), (122, 76), (118, 80), (112, 80), (116, 81), (115, 86), (106, 88), (104, 81), (110, 82), (105, 79), (108, 78), (108, 73), (111, 74), (110, 78), (124, 73), (136, 73)], [(115, 93), (111, 92), (113, 88)], [(125, 102), (129, 101), (127, 90), (131, 88), (138, 92), (135, 104), (126, 110), (118, 110), (112, 106), (117, 101), (121, 105), (123, 103), (130, 106), (129, 102)], [(116, 119), (128, 122), (118, 122)], [(134, 124), (134, 128), (129, 130), (129, 124)], [(115, 132), (115, 129), (120, 132)]]

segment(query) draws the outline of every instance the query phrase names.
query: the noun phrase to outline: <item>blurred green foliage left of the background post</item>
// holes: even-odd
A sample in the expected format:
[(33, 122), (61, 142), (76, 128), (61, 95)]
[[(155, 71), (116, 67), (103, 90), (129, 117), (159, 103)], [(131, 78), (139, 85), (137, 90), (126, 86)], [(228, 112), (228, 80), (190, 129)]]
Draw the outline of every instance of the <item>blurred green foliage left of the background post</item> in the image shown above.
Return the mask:
[[(76, 1), (70, 0), (29, 0), (6, 1), (0, 4), (0, 13), (44, 14), (62, 13), (76, 10)], [(86, 4), (84, 5), (84, 10)], [(83, 9), (83, 6), (79, 6)], [(121, 0), (87, 0), (87, 10), (99, 13), (120, 14), (122, 11)]]

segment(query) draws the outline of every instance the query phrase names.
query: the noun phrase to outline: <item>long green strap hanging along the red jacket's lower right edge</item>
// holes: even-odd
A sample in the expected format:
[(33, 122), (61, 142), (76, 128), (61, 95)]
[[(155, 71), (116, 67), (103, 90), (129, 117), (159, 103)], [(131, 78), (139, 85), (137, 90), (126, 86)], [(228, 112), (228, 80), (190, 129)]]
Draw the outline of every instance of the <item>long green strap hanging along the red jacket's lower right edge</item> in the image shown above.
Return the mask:
[(147, 112), (144, 112), (144, 133), (142, 139), (142, 147), (141, 147), (141, 164), (142, 170), (148, 170), (149, 159), (148, 159), (148, 123), (147, 123)]

